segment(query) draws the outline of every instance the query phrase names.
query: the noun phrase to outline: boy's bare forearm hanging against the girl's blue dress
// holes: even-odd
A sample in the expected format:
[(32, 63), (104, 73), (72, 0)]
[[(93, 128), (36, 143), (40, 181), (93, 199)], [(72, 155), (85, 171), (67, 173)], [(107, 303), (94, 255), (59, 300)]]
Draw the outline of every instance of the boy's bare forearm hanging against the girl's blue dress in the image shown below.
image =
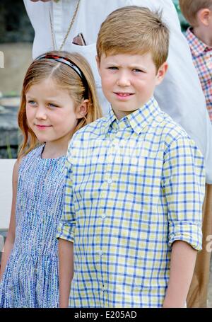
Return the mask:
[(69, 306), (73, 278), (73, 243), (59, 238), (59, 307)]

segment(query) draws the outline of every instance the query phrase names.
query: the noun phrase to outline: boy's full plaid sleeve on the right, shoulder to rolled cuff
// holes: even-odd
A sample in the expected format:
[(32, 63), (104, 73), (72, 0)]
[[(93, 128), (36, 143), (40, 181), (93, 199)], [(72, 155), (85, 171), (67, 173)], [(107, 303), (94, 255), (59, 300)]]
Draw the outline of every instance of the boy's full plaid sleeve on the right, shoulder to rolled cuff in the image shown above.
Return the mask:
[(204, 158), (188, 137), (179, 137), (168, 147), (163, 183), (168, 209), (169, 245), (177, 240), (186, 241), (201, 251)]

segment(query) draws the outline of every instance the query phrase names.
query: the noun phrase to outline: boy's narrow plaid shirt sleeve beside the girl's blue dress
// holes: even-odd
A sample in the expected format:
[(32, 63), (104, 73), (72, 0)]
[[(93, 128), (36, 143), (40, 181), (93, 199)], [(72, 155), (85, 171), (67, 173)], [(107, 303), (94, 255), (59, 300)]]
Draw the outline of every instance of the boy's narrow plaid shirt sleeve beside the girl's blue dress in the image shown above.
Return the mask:
[(71, 157), (69, 155), (69, 151), (66, 158), (65, 172), (66, 177), (64, 189), (64, 207), (63, 214), (61, 216), (59, 226), (57, 228), (57, 238), (73, 242), (76, 218), (73, 205), (73, 178), (71, 173)]

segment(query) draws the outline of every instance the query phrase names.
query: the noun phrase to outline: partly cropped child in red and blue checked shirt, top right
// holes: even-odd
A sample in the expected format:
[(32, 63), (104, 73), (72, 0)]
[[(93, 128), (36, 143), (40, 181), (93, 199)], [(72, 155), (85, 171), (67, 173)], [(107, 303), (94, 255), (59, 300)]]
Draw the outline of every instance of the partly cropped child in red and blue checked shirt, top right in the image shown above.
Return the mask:
[(179, 6), (191, 25), (186, 38), (212, 122), (212, 0), (179, 0)]

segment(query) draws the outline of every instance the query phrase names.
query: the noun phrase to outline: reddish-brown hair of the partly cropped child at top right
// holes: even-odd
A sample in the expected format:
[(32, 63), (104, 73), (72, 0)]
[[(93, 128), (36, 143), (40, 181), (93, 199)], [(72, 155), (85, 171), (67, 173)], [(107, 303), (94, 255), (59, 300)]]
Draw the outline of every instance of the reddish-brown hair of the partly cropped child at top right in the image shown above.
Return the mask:
[(179, 0), (179, 6), (184, 18), (192, 27), (196, 27), (198, 25), (196, 19), (198, 11), (204, 8), (212, 10), (212, 0)]

